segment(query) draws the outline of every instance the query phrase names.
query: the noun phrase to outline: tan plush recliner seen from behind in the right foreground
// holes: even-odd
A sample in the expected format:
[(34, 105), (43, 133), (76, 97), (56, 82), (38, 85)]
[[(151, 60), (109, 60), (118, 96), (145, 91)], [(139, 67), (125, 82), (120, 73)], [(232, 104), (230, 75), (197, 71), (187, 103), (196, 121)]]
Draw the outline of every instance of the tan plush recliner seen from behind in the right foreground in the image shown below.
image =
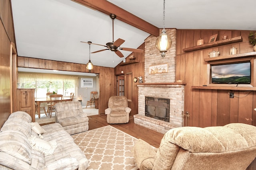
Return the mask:
[(141, 139), (134, 144), (140, 170), (245, 170), (255, 157), (256, 127), (243, 123), (174, 128), (159, 149)]

